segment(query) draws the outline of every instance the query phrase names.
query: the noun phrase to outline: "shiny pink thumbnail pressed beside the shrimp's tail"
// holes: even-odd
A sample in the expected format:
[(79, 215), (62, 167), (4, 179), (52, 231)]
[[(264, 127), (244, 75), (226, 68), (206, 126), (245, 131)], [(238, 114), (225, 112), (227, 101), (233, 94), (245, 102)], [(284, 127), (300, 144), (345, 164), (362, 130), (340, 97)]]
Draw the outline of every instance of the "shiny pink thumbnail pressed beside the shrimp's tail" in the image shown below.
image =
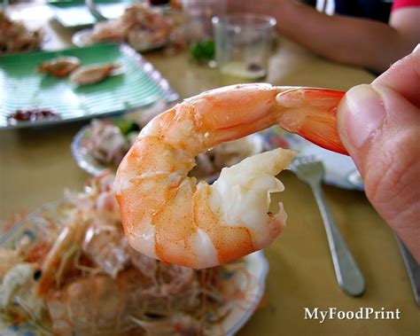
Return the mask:
[[(385, 106), (370, 85), (364, 84), (346, 92), (338, 106), (340, 127), (344, 128), (347, 145), (360, 148), (381, 126)], [(345, 144), (346, 145), (346, 144)]]

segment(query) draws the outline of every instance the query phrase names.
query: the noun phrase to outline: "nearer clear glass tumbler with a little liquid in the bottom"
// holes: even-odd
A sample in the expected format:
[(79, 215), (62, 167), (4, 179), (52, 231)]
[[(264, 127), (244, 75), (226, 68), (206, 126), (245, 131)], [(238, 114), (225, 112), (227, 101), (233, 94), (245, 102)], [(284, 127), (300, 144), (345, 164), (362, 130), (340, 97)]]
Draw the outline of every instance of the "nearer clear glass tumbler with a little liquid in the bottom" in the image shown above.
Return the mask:
[(255, 82), (267, 75), (276, 19), (232, 14), (213, 18), (216, 62), (222, 84)]

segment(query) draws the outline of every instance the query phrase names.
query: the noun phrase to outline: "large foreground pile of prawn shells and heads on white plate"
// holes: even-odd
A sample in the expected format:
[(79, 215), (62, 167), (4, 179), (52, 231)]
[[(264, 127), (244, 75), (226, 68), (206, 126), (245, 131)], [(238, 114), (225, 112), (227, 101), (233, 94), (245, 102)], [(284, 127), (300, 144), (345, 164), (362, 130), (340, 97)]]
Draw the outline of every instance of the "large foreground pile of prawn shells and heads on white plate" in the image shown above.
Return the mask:
[(106, 174), (82, 193), (66, 192), (61, 223), (40, 215), (36, 238), (0, 248), (0, 321), (39, 334), (214, 334), (226, 303), (246, 290), (231, 276), (246, 272), (244, 262), (192, 270), (137, 253), (112, 183)]

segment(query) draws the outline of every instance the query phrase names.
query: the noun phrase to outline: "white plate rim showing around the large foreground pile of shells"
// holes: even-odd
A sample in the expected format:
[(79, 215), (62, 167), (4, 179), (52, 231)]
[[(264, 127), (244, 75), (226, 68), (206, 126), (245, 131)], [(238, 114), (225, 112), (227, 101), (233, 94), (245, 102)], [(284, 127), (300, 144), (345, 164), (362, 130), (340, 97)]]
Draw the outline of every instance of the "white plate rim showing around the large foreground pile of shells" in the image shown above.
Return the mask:
[[(48, 218), (49, 223), (62, 223), (66, 219), (68, 210), (69, 207), (63, 202), (53, 202), (41, 207), (17, 223), (12, 228), (12, 231), (0, 237), (0, 247), (12, 248), (22, 237), (27, 237), (29, 241), (35, 241), (36, 228), (47, 224), (44, 218)], [(268, 273), (268, 261), (264, 254), (258, 251), (247, 255), (245, 257), (245, 270), (247, 270), (249, 277), (246, 277), (244, 281), (238, 282), (238, 285), (246, 286), (245, 293), (240, 298), (227, 303), (230, 309), (229, 315), (222, 320), (221, 324), (214, 325), (212, 334), (220, 334), (223, 331), (225, 335), (234, 335), (244, 326), (258, 307), (265, 290), (265, 281)], [(231, 276), (231, 273), (227, 274), (227, 277), (229, 276)], [(0, 335), (35, 336), (39, 335), (39, 333), (28, 324), (4, 325), (0, 321)]]

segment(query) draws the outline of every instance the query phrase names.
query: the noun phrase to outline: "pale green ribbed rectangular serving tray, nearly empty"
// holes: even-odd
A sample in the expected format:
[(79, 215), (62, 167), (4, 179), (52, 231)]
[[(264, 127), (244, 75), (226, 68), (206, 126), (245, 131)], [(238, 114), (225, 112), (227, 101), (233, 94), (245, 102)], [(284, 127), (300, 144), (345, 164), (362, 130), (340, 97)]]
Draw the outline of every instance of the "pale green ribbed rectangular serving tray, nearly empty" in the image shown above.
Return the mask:
[[(68, 78), (37, 73), (44, 61), (74, 56), (82, 65), (115, 62), (122, 74), (87, 86), (75, 86)], [(63, 51), (36, 51), (0, 57), (0, 129), (39, 126), (124, 113), (158, 99), (167, 102), (179, 96), (152, 64), (125, 44), (105, 43)], [(58, 120), (7, 122), (18, 109), (46, 108)]]

